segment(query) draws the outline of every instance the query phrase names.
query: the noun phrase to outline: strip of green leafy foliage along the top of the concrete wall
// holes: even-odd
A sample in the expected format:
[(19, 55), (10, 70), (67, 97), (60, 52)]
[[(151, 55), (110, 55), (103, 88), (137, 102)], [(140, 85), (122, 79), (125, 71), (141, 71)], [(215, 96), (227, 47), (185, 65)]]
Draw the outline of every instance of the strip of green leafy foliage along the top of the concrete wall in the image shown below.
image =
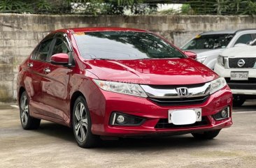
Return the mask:
[(155, 13), (157, 3), (183, 3), (179, 12), (164, 15), (256, 15), (255, 0), (0, 0), (0, 13), (80, 13), (87, 15), (134, 15)]

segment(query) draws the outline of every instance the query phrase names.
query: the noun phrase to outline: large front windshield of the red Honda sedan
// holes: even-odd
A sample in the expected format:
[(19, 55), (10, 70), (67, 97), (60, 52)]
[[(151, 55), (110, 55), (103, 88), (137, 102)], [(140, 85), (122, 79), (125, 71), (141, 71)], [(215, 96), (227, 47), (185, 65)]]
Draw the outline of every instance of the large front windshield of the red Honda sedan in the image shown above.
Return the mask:
[(168, 59), (185, 56), (152, 33), (98, 31), (75, 33), (81, 56), (85, 59)]

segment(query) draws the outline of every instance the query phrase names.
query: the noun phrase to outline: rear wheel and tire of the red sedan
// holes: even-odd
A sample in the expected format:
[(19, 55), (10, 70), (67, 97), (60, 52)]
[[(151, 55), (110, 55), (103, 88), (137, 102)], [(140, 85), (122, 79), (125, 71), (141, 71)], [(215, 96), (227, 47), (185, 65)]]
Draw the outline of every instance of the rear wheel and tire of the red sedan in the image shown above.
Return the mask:
[(35, 130), (39, 128), (41, 119), (36, 119), (29, 114), (29, 98), (24, 91), (20, 96), (20, 123), (24, 130)]

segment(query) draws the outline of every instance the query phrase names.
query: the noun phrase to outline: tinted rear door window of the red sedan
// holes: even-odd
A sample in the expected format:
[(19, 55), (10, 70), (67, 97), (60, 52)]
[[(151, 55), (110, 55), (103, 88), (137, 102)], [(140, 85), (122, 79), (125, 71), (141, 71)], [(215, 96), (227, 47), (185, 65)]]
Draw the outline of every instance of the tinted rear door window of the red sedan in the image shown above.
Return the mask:
[(43, 41), (38, 47), (38, 50), (36, 51), (36, 53), (34, 54), (34, 59), (40, 60), (40, 61), (46, 61), (51, 43), (52, 43), (52, 39)]

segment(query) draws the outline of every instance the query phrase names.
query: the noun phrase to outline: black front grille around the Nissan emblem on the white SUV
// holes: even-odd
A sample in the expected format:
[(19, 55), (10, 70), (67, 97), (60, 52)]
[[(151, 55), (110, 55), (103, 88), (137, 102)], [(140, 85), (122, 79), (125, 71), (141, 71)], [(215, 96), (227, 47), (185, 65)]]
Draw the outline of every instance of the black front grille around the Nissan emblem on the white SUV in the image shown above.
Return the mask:
[[(237, 65), (238, 61), (243, 59), (245, 64), (242, 67)], [(229, 58), (229, 68), (253, 68), (256, 62), (256, 58)]]

